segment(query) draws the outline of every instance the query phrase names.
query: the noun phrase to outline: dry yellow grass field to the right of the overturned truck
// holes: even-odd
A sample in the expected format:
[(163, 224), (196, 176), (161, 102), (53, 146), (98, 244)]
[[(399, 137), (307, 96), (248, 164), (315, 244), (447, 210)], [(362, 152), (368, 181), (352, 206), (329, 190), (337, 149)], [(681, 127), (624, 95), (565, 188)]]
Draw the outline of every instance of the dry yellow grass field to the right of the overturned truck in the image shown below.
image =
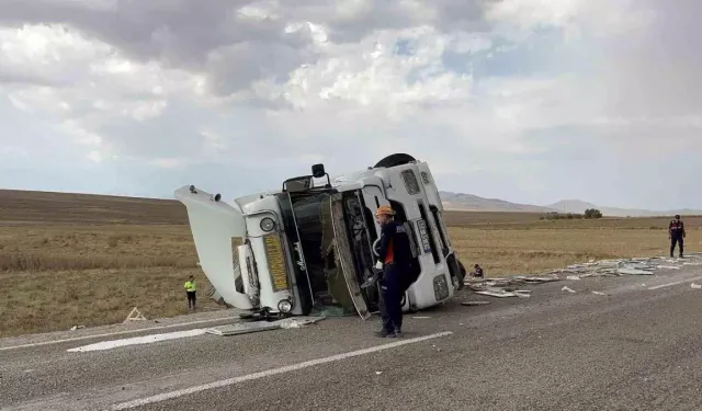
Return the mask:
[[(670, 217), (540, 220), (539, 214), (448, 212), (446, 225), (468, 271), (488, 276), (539, 273), (590, 259), (667, 255)], [(686, 251), (702, 251), (702, 216), (683, 216)], [(677, 250), (676, 250), (677, 252)]]

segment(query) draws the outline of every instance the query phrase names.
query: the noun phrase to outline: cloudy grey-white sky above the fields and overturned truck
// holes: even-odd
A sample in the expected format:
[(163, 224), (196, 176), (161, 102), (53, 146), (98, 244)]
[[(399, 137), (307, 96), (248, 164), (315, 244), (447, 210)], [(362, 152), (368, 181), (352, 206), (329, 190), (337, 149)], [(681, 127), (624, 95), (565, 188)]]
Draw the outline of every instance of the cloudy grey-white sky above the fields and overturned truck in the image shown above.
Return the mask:
[(0, 0), (0, 187), (225, 197), (393, 152), (440, 190), (702, 208), (697, 0)]

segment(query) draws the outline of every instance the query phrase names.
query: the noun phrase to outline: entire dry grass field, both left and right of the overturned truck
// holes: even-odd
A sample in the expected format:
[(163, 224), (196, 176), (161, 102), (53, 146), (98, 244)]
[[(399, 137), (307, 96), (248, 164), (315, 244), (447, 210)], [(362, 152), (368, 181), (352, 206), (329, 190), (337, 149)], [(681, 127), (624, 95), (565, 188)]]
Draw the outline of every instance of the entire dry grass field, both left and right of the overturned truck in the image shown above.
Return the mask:
[[(448, 212), (458, 256), (489, 276), (537, 273), (589, 259), (667, 252), (669, 217), (540, 220), (524, 213)], [(684, 217), (702, 251), (702, 217)], [(174, 201), (0, 190), (0, 336), (218, 308), (197, 261), (184, 207)]]

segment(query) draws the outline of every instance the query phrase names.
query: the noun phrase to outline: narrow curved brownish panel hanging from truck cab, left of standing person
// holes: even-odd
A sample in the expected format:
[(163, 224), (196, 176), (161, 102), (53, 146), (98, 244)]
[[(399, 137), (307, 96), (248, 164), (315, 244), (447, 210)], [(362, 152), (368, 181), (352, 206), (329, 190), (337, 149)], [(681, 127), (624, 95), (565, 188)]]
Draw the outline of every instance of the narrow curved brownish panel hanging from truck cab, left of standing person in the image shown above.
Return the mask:
[(343, 201), (341, 194), (331, 196), (331, 220), (333, 222), (333, 236), (337, 244), (337, 255), (339, 258), (339, 266), (343, 273), (343, 277), (349, 288), (349, 295), (362, 319), (371, 318), (367, 305), (361, 294), (361, 287), (353, 264), (353, 255), (351, 254), (351, 246), (349, 244), (349, 232), (343, 216)]

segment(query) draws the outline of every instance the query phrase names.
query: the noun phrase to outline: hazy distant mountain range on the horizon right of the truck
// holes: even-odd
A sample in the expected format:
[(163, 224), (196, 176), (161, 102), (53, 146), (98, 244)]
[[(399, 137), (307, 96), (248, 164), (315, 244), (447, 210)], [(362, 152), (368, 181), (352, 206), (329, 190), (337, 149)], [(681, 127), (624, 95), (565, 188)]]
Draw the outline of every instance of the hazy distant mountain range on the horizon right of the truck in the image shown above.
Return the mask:
[(557, 203), (539, 206), (532, 204), (510, 203), (499, 198), (484, 198), (473, 194), (439, 192), (441, 201), (446, 209), (471, 212), (513, 212), (513, 213), (578, 213), (582, 214), (588, 208), (597, 208), (609, 217), (653, 217), (680, 215), (702, 215), (702, 209), (629, 209), (598, 206), (580, 199), (562, 199)]

